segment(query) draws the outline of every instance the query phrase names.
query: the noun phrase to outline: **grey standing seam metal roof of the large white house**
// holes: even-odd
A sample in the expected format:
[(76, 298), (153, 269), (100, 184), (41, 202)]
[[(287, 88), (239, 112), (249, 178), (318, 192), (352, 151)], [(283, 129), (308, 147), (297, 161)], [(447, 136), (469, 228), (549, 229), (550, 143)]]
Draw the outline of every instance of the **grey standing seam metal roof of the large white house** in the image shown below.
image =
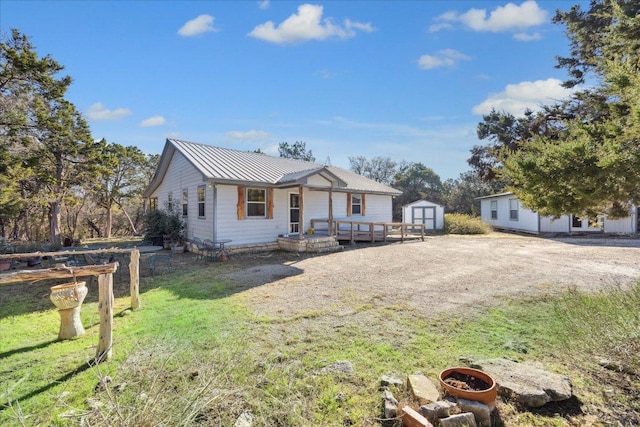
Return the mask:
[(319, 163), (303, 160), (274, 157), (251, 151), (234, 150), (215, 147), (177, 139), (167, 139), (160, 159), (160, 165), (152, 183), (145, 193), (153, 191), (163, 179), (164, 171), (168, 167), (168, 160), (162, 157), (172, 154), (172, 150), (180, 152), (193, 166), (198, 169), (205, 179), (213, 181), (255, 182), (261, 184), (278, 185), (292, 182), (296, 179), (329, 171), (346, 186), (343, 191), (362, 191), (399, 195), (401, 191), (362, 175), (336, 166), (325, 166)]

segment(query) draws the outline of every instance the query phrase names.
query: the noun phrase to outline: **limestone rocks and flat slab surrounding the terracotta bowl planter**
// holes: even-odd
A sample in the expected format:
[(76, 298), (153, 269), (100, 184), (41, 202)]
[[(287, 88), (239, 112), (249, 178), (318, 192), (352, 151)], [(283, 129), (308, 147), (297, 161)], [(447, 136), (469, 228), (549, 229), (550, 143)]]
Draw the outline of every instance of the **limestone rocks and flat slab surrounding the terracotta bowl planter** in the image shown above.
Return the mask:
[[(540, 407), (572, 396), (571, 382), (567, 377), (537, 365), (508, 359), (467, 360), (467, 363), (494, 378), (501, 397), (514, 400), (522, 407)], [(402, 420), (405, 427), (492, 425), (491, 414), (495, 408), (473, 400), (442, 396), (434, 383), (421, 373), (409, 375), (406, 388), (405, 381), (394, 374), (382, 376), (380, 385), (384, 418), (391, 422), (390, 425), (397, 425), (393, 424), (397, 420)], [(400, 393), (401, 401), (408, 400), (406, 404), (399, 404), (394, 392)], [(419, 409), (414, 410), (409, 403), (419, 406)]]

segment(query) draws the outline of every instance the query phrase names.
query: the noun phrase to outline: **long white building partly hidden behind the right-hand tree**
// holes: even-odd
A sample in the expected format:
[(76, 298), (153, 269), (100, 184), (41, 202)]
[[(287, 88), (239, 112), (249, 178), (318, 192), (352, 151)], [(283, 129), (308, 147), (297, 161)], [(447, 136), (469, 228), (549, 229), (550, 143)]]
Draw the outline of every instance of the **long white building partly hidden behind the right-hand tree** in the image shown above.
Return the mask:
[(563, 215), (558, 219), (543, 216), (528, 209), (510, 192), (479, 197), (480, 216), (484, 222), (502, 230), (526, 233), (638, 233), (638, 208), (632, 207), (629, 216), (609, 219), (606, 215), (597, 223), (575, 215)]

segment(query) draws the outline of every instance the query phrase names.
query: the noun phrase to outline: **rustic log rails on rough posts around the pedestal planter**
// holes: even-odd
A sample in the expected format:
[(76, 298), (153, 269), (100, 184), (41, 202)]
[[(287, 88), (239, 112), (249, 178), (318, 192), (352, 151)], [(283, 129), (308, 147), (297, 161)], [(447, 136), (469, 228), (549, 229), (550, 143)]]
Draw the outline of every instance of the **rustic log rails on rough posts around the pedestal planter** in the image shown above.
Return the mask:
[[(99, 253), (131, 253), (129, 263), (131, 308), (140, 307), (140, 251), (138, 249), (95, 249), (86, 251), (64, 252), (33, 252), (29, 254), (0, 255), (2, 258), (33, 258), (38, 256), (63, 257), (67, 255), (91, 255)], [(78, 277), (98, 276), (98, 310), (100, 312), (100, 333), (98, 347), (96, 349), (97, 363), (111, 358), (113, 346), (113, 273), (119, 264), (85, 265), (78, 267), (58, 266), (39, 270), (18, 270), (11, 273), (0, 274), (0, 285), (24, 281), (37, 281), (44, 279), (73, 279)]]

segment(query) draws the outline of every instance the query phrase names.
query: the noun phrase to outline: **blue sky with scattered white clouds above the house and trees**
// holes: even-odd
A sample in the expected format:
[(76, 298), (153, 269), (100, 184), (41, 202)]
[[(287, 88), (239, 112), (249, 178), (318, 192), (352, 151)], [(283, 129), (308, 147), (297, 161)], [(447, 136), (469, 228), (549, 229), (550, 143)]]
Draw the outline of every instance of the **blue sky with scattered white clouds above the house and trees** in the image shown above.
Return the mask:
[(469, 170), (491, 108), (569, 94), (556, 9), (585, 1), (16, 1), (18, 28), (65, 66), (94, 138), (160, 153), (167, 137), (316, 161)]

